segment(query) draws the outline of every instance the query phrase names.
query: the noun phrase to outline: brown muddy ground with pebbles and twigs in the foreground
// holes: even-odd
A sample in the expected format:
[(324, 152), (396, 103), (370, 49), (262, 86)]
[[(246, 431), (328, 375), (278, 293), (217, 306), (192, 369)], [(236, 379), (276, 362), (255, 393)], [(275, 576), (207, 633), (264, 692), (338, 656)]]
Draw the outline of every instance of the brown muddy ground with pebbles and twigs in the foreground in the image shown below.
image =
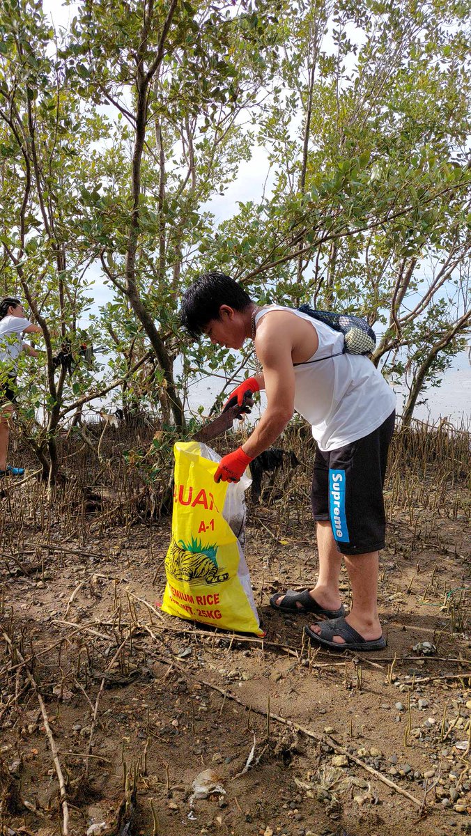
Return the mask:
[[(159, 613), (168, 520), (105, 530), (90, 515), (80, 542), (25, 521), (2, 565), (3, 833), (63, 826), (38, 693), (70, 834), (471, 832), (465, 526), (438, 518), (432, 535), (397, 512), (381, 554), (387, 649), (354, 655), (310, 648), (307, 617), (269, 608), (315, 579), (313, 523), (278, 519), (249, 508), (263, 641)], [(412, 650), (424, 641), (434, 655)], [(224, 793), (191, 804), (208, 769)]]

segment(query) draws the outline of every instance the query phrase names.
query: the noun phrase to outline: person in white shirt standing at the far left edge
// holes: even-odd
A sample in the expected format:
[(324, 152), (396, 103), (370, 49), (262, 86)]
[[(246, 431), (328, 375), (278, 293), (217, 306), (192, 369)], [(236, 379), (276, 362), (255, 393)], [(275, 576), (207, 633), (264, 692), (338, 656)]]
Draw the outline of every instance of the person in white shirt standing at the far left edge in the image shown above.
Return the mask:
[(0, 477), (21, 476), (23, 467), (7, 465), (10, 423), (16, 400), (18, 357), (22, 351), (37, 357), (31, 345), (23, 343), (23, 334), (41, 334), (24, 315), (19, 299), (6, 296), (0, 301)]

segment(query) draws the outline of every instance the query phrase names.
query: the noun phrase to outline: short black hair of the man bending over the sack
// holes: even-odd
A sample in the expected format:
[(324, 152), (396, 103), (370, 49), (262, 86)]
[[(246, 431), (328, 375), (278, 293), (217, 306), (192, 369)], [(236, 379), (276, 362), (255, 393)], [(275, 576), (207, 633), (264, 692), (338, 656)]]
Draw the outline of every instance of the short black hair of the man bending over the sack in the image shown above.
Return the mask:
[(251, 303), (247, 291), (225, 273), (202, 273), (183, 294), (180, 322), (198, 339), (211, 319), (221, 319), (221, 305), (244, 311)]

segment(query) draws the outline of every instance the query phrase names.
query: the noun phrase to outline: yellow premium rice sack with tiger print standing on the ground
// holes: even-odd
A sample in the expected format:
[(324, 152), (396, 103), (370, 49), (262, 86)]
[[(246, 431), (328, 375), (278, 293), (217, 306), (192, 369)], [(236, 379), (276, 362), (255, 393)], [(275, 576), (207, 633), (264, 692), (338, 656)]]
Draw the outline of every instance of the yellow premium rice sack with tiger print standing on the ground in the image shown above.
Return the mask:
[(198, 441), (178, 441), (172, 541), (161, 609), (223, 630), (264, 635), (243, 555), (248, 477), (214, 482), (219, 456)]

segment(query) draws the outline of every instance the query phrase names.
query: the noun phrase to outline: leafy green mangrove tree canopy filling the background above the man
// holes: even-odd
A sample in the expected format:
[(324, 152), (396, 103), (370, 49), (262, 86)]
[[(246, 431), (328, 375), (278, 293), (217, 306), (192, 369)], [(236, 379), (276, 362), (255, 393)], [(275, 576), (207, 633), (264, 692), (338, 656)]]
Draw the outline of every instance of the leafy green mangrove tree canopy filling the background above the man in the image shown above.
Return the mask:
[[(471, 317), (469, 16), (454, 0), (83, 0), (54, 31), (40, 0), (4, 0), (2, 284), (44, 329), (23, 422), (45, 474), (59, 428), (105, 393), (182, 432), (192, 375), (250, 363), (182, 334), (182, 291), (208, 268), (259, 301), (366, 315), (410, 421)], [(218, 222), (255, 145), (271, 186)], [(54, 355), (84, 342), (97, 271), (113, 298), (86, 340), (106, 362), (69, 376)]]

